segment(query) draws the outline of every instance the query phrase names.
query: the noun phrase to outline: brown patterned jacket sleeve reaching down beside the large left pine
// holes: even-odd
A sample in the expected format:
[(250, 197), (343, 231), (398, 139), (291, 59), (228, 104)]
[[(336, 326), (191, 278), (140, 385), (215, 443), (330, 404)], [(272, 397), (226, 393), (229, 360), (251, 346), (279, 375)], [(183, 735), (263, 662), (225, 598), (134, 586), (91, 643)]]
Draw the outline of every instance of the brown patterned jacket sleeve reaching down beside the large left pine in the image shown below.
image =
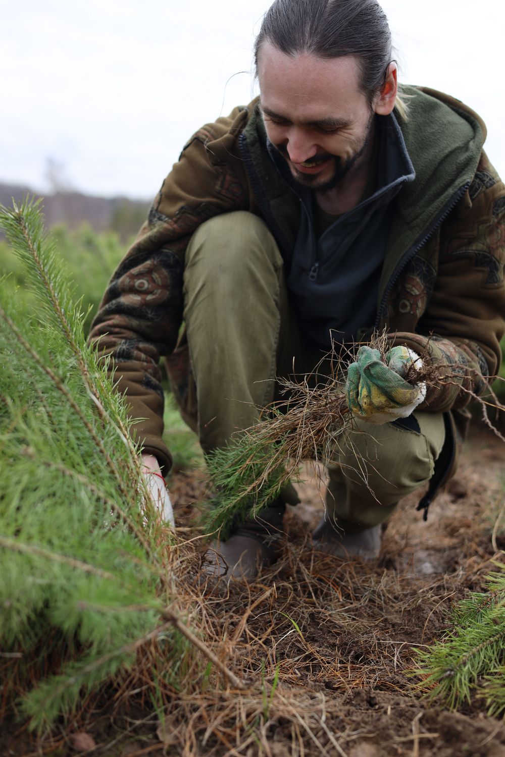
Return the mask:
[(247, 202), (230, 129), (230, 123), (240, 126), (247, 111), (236, 109), (232, 117), (204, 127), (185, 145), (148, 221), (112, 276), (89, 335), (102, 356), (112, 357), (118, 391), (126, 394), (132, 418), (139, 419), (132, 436), (165, 469), (171, 456), (162, 441), (158, 361), (175, 347), (182, 323), (185, 248), (205, 220), (241, 210)]

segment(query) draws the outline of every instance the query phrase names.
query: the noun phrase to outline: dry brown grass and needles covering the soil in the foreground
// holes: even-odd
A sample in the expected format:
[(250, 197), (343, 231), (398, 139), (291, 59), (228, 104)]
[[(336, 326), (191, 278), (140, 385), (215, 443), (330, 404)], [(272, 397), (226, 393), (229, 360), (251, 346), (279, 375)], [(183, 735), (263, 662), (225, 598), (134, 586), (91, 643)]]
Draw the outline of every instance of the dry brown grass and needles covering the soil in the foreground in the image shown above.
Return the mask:
[[(467, 531), (452, 569), (429, 578), (401, 568), (405, 544), (396, 533), (386, 532), (382, 562), (369, 565), (314, 551), (296, 510), (286, 530), (282, 559), (250, 584), (202, 586), (198, 538), (166, 552), (179, 597), (172, 609), (198, 629), (245, 690), (209, 668), (182, 637), (153, 639), (129, 674), (83, 699), (73, 721), (42, 740), (42, 748), (64, 748), (69, 731), (93, 731), (105, 705), (119, 731), (104, 726), (104, 736), (96, 735), (95, 748), (84, 753), (121, 755), (133, 738), (133, 751), (124, 754), (360, 757), (378, 734), (384, 751), (371, 754), (410, 755), (415, 743), (419, 754), (429, 753), (426, 729), (412, 741), (422, 705), (407, 669), (413, 647), (440, 634), (450, 602), (478, 587), (488, 571), (482, 530)], [(176, 668), (166, 662), (174, 645)], [(391, 707), (396, 718), (387, 714)]]

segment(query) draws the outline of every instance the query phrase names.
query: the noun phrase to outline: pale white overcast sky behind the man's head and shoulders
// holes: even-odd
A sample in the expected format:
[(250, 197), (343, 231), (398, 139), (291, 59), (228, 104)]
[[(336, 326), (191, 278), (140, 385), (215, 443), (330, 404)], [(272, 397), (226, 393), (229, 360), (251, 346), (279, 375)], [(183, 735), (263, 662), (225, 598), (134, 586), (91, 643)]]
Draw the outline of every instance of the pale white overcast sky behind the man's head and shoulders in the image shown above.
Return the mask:
[[(0, 182), (44, 191), (52, 159), (83, 192), (152, 198), (192, 132), (256, 93), (251, 50), (269, 5), (0, 0)], [(401, 79), (473, 107), (505, 176), (505, 0), (382, 7)]]

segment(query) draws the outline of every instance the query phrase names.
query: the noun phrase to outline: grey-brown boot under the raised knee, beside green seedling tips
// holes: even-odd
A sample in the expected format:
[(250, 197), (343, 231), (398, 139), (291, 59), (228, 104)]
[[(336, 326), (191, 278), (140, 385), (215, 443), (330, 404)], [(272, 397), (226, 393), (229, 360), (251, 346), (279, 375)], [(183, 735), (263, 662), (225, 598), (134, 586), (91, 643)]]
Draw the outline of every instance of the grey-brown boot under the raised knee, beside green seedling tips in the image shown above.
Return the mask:
[(204, 553), (201, 570), (210, 578), (256, 578), (260, 568), (279, 557), (285, 505), (276, 500), (256, 519), (248, 519), (221, 541), (214, 539)]

